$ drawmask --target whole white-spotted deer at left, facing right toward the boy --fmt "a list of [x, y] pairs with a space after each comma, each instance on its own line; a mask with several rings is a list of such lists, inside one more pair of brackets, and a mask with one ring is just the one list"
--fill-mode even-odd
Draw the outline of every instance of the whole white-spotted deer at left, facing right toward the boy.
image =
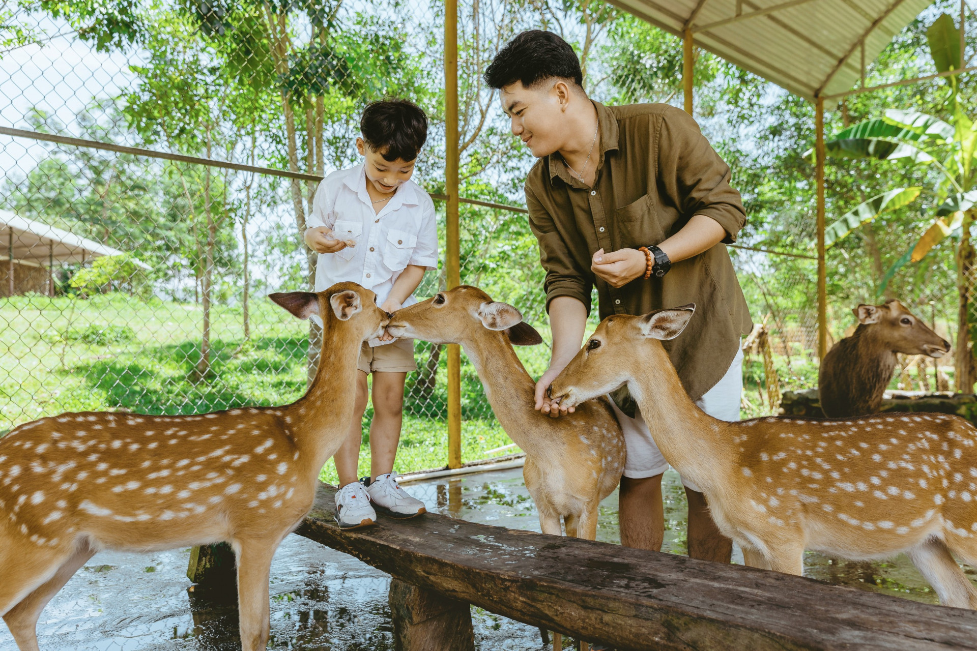
[[265, 648], [272, 556], [312, 508], [319, 469], [353, 416], [361, 343], [389, 319], [356, 283], [269, 298], [324, 323], [319, 370], [299, 401], [199, 416], [63, 414], [0, 439], [0, 614], [21, 651], [38, 649], [41, 610], [96, 551], [221, 541], [237, 558], [241, 646]]

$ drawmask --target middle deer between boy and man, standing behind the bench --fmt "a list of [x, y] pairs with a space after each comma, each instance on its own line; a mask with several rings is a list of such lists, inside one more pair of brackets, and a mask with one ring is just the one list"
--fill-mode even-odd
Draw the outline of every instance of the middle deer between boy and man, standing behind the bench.
[[553, 419], [533, 409], [535, 383], [512, 345], [542, 338], [512, 305], [463, 285], [394, 312], [387, 332], [435, 344], [460, 344], [486, 389], [499, 425], [526, 452], [523, 476], [543, 533], [594, 540], [597, 508], [620, 481], [624, 437], [605, 397]]

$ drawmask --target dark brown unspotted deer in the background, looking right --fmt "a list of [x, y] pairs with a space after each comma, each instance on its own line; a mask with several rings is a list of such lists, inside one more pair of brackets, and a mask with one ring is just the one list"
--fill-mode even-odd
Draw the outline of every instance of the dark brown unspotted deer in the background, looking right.
[[897, 352], [939, 359], [950, 351], [950, 342], [895, 299], [852, 311], [859, 323], [855, 333], [831, 346], [821, 362], [818, 387], [829, 418], [878, 413]]

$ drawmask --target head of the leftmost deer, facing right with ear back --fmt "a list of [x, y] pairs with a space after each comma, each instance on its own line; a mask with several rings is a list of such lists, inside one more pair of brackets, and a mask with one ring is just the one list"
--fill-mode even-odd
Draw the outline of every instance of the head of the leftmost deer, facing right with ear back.
[[268, 298], [300, 319], [319, 314], [324, 327], [345, 322], [361, 341], [383, 334], [390, 314], [376, 305], [376, 294], [353, 282], [336, 283], [323, 292], [278, 292]]

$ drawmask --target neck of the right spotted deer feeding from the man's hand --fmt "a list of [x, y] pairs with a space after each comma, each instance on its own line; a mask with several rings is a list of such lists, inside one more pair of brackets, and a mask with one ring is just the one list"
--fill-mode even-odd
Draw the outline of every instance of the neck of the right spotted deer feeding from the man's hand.
[[[712, 418], [692, 401], [657, 341], [650, 355], [636, 354], [628, 390], [665, 461], [703, 491], [720, 486], [736, 467], [731, 447], [734, 424]], [[651, 365], [649, 365], [651, 362]]]

